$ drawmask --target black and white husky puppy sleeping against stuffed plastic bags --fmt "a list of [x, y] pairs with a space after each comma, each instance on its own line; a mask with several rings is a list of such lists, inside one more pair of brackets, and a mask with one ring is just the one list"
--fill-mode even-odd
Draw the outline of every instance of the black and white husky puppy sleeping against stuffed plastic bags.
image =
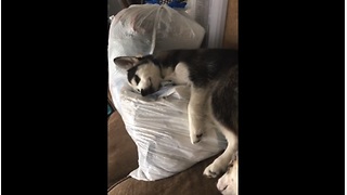
[[143, 96], [156, 92], [160, 82], [189, 84], [189, 130], [192, 144], [205, 132], [208, 117], [228, 141], [226, 151], [205, 168], [216, 178], [224, 172], [237, 151], [239, 56], [231, 49], [170, 50], [145, 56], [120, 56], [114, 63], [128, 70], [129, 84]]

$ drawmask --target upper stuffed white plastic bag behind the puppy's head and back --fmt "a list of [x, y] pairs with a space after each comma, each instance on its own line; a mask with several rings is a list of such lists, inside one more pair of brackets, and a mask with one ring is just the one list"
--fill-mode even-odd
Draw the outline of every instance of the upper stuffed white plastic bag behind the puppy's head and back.
[[[188, 14], [168, 5], [133, 4], [112, 18], [108, 32], [108, 80], [111, 94], [120, 110], [119, 93], [113, 93], [126, 81], [124, 72], [115, 67], [117, 56], [146, 55], [170, 49], [196, 49], [205, 29]], [[121, 73], [121, 74], [119, 74]]]

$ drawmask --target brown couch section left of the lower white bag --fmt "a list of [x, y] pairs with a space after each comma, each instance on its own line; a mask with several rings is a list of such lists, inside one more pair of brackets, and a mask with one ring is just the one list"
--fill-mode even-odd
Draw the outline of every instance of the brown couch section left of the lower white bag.
[[137, 146], [125, 129], [117, 110], [108, 117], [107, 186], [127, 177], [138, 167]]

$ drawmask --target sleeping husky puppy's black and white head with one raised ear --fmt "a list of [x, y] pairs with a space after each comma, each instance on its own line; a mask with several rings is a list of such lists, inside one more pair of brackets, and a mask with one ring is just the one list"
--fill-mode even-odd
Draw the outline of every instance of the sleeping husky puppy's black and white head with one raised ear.
[[114, 58], [114, 63], [128, 70], [128, 83], [142, 96], [159, 90], [163, 80], [160, 66], [152, 56], [119, 56]]

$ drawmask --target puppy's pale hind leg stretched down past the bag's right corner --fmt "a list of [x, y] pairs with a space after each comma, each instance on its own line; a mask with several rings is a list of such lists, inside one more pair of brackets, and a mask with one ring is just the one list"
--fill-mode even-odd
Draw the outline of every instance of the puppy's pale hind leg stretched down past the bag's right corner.
[[226, 151], [214, 160], [214, 162], [205, 168], [204, 176], [208, 178], [216, 178], [218, 174], [226, 171], [228, 168], [228, 164], [232, 159], [234, 153], [237, 151], [237, 135], [217, 121], [216, 125], [218, 126], [218, 129], [224, 134], [228, 141], [228, 146]]

